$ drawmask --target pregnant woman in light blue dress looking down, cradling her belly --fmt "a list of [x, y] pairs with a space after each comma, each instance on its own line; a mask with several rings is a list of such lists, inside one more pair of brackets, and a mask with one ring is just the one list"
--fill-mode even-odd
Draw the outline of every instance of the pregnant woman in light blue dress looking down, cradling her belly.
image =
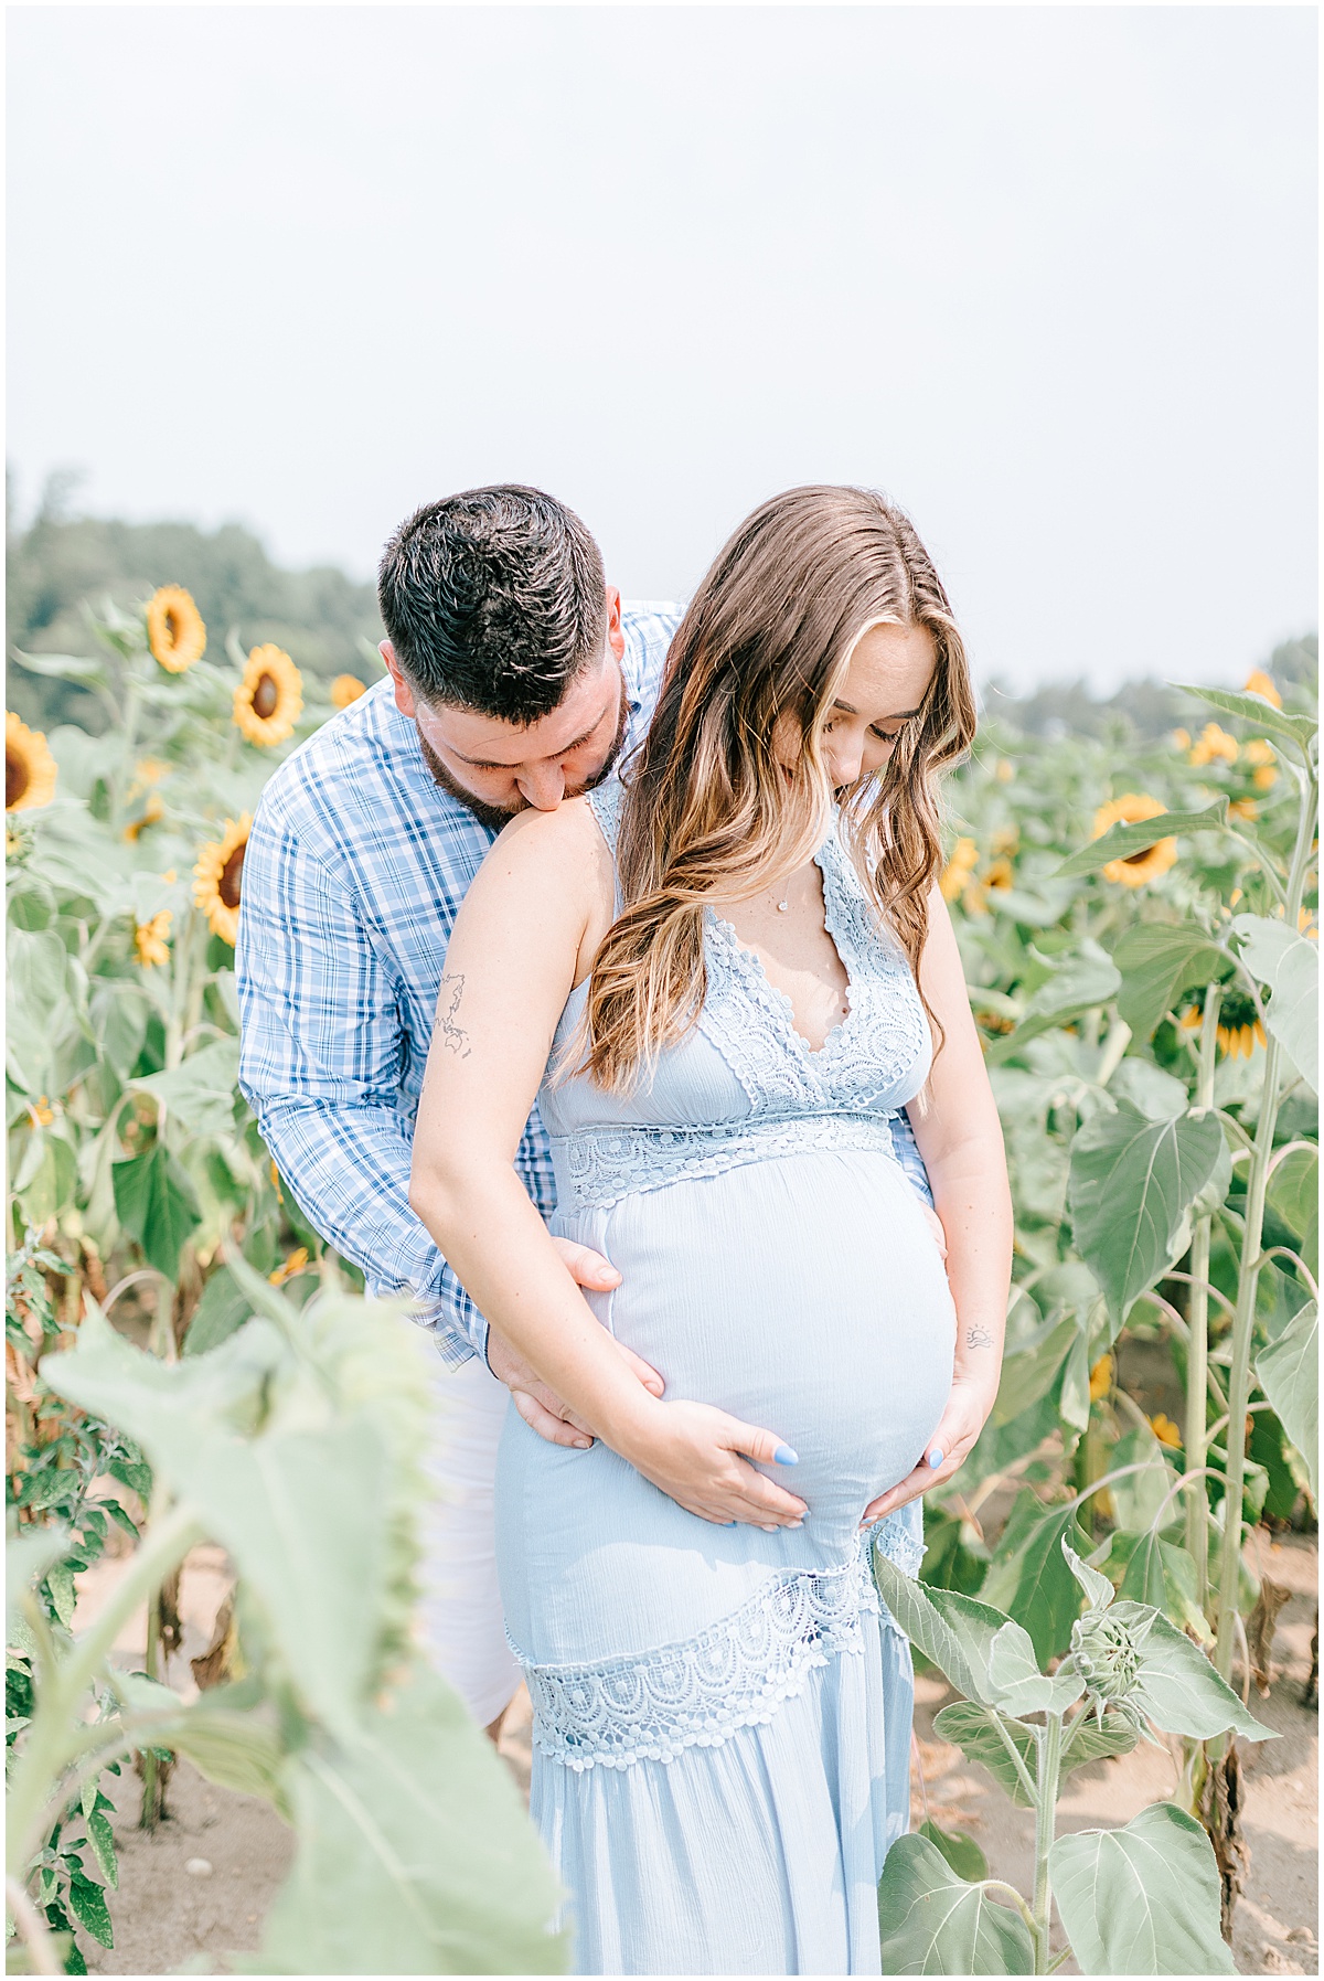
[[[699, 586], [623, 782], [520, 814], [455, 923], [412, 1200], [586, 1426], [562, 1448], [509, 1412], [499, 1462], [580, 1973], [879, 1973], [912, 1680], [869, 1547], [918, 1567], [918, 1494], [997, 1391], [1009, 1276], [934, 886], [934, 779], [972, 731], [910, 523], [792, 489]], [[511, 1167], [534, 1095], [552, 1230], [612, 1260], [610, 1296]]]

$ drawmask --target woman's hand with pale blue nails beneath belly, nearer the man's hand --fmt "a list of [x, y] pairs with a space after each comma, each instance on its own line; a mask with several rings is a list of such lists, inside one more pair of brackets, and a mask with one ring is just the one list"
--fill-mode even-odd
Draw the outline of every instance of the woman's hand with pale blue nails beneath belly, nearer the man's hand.
[[778, 1460], [788, 1446], [772, 1430], [742, 1424], [710, 1403], [655, 1403], [649, 1397], [627, 1436], [606, 1442], [687, 1513], [718, 1527], [742, 1521], [776, 1533], [800, 1527], [807, 1512], [804, 1500], [746, 1464], [746, 1458], [764, 1466], [794, 1464], [794, 1456]]

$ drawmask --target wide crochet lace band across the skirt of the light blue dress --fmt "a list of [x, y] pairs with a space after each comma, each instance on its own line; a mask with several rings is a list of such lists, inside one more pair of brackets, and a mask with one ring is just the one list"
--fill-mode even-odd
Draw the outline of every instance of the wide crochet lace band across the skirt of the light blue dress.
[[[916, 1504], [916, 1502], [914, 1502]], [[914, 1575], [924, 1553], [910, 1508], [861, 1537], [855, 1557], [819, 1575], [778, 1575], [699, 1636], [604, 1664], [524, 1666], [532, 1743], [576, 1773], [675, 1761], [687, 1747], [720, 1747], [740, 1727], [766, 1725], [809, 1672], [863, 1650], [861, 1620], [893, 1624], [871, 1575], [871, 1543]]]

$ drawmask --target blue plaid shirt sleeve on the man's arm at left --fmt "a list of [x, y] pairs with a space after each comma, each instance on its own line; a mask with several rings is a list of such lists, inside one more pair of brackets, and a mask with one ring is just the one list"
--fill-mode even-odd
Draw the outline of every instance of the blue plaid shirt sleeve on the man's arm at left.
[[412, 1123], [396, 983], [352, 893], [263, 816], [243, 856], [239, 1088], [309, 1222], [370, 1292], [410, 1294], [439, 1353], [487, 1349], [487, 1321], [410, 1208]]

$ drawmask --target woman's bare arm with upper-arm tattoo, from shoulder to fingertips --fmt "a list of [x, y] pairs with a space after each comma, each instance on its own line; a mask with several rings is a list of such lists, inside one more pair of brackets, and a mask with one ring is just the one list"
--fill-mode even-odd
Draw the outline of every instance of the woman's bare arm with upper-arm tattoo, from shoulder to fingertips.
[[414, 1135], [410, 1202], [491, 1325], [588, 1428], [689, 1512], [796, 1525], [770, 1430], [649, 1395], [594, 1317], [515, 1173], [570, 989], [612, 917], [592, 810], [520, 812], [455, 919]]

